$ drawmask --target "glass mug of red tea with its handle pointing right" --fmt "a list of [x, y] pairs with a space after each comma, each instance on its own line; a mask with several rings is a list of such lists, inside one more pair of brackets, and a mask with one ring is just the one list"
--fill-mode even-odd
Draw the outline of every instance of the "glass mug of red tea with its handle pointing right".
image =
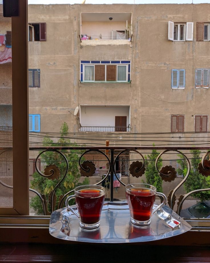
[[[130, 209], [131, 222], [138, 226], [147, 226], [152, 215], [166, 203], [166, 196], [158, 193], [156, 187], [145, 183], [126, 185], [126, 199]], [[163, 202], [153, 209], [156, 195], [163, 197]]]

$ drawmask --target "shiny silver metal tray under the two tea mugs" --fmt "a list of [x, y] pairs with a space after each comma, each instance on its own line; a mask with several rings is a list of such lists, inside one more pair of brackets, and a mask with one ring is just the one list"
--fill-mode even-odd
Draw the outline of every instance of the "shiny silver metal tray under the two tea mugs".
[[49, 226], [49, 232], [55, 238], [93, 243], [147, 242], [176, 236], [190, 229], [191, 226], [166, 205], [154, 213], [149, 226], [135, 226], [130, 222], [126, 201], [104, 202], [100, 227], [95, 230], [81, 228], [78, 217], [66, 207], [53, 211]]

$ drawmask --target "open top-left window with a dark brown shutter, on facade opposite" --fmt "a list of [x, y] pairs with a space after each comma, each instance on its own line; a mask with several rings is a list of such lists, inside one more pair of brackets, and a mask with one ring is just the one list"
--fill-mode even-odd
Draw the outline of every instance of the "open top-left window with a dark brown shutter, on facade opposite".
[[46, 41], [46, 23], [29, 23], [29, 41]]

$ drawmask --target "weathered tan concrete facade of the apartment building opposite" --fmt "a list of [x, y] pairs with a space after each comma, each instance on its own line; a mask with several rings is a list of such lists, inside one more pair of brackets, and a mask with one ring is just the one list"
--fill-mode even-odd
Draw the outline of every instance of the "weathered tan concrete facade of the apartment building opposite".
[[[118, 116], [127, 115], [130, 130], [123, 137], [133, 136], [133, 146], [163, 145], [155, 134], [151, 135], [150, 143], [135, 141], [138, 133], [169, 133], [168, 146], [191, 146], [206, 141], [208, 133], [202, 136], [201, 133], [171, 133], [171, 115], [184, 115], [184, 132], [195, 131], [195, 115], [207, 115], [209, 125], [206, 103], [210, 98], [209, 88], [195, 88], [196, 69], [210, 68], [210, 41], [196, 40], [197, 22], [210, 23], [209, 7], [209, 4], [29, 5], [29, 24], [46, 23], [46, 41], [28, 43], [29, 68], [40, 69], [40, 88], [29, 88], [29, 114], [40, 114], [40, 131], [58, 133], [62, 123], [67, 122], [75, 141], [83, 143], [77, 137], [80, 124], [87, 125], [85, 115], [81, 115], [84, 106], [118, 109], [126, 106], [129, 113]], [[107, 17], [112, 20], [105, 21]], [[184, 23], [185, 27], [193, 22], [192, 41], [168, 40], [169, 21]], [[126, 28], [131, 41], [108, 39], [112, 30]], [[81, 34], [91, 34], [93, 39], [80, 41]], [[131, 82], [81, 81], [83, 60], [130, 61]], [[173, 69], [185, 70], [183, 89], [171, 88]], [[79, 111], [74, 116], [77, 106]], [[111, 115], [106, 120], [109, 118]], [[88, 120], [91, 120], [89, 115]], [[104, 122], [104, 126], [113, 126], [113, 121]], [[113, 139], [110, 145], [121, 144], [114, 132], [110, 137]], [[187, 137], [190, 143], [185, 143]], [[30, 141], [42, 139], [31, 137]], [[104, 145], [105, 141], [106, 135]], [[93, 139], [92, 144], [95, 142]], [[176, 180], [175, 185], [180, 182]], [[170, 190], [168, 186], [165, 189]]]

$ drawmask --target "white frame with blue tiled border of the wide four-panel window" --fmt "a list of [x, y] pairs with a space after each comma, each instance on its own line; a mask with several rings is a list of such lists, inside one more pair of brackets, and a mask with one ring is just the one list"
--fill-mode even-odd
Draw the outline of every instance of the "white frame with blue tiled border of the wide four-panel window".
[[[95, 81], [95, 66], [104, 65], [105, 66], [105, 76], [104, 81]], [[116, 65], [116, 81], [106, 80], [106, 68], [108, 65]], [[85, 68], [87, 66], [94, 66], [94, 80], [85, 80]], [[118, 66], [126, 66], [126, 80], [118, 80]], [[106, 82], [106, 83], [116, 83], [116, 82], [130, 82], [130, 60], [81, 60], [80, 61], [80, 81], [84, 82]]]

